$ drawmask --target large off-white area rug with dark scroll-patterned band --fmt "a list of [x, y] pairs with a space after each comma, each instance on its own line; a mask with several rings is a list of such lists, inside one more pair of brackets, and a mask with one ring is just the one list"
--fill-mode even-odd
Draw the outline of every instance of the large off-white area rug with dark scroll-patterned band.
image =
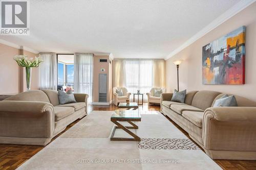
[[91, 112], [18, 169], [221, 169], [157, 111], [140, 112], [140, 142], [110, 141], [112, 113]]

